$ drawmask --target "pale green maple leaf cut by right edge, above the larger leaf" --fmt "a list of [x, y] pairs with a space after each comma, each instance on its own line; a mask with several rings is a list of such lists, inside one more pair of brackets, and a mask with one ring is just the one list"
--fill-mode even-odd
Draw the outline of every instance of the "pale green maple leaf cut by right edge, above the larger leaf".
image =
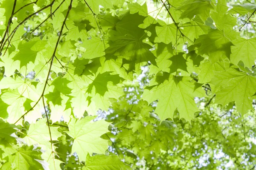
[[256, 59], [256, 38], [244, 39], [238, 37], [237, 40], [233, 41], [233, 44], [235, 46], [231, 47], [230, 61], [238, 64], [241, 60], [246, 67], [251, 68]]

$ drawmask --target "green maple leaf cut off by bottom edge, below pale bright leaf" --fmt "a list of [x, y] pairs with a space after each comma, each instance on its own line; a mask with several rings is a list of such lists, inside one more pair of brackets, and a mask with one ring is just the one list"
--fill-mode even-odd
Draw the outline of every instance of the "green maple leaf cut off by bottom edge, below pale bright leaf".
[[122, 162], [118, 156], [95, 155], [86, 157], [82, 170], [130, 170], [131, 167]]

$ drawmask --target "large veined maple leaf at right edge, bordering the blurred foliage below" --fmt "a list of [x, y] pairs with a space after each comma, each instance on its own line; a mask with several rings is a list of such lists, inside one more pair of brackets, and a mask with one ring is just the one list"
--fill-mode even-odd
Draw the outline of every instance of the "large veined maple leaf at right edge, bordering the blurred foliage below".
[[242, 115], [253, 110], [252, 96], [256, 91], [256, 77], [236, 68], [229, 68], [216, 72], [210, 83], [215, 85], [213, 91], [216, 94], [216, 103], [224, 106], [235, 101], [237, 111]]

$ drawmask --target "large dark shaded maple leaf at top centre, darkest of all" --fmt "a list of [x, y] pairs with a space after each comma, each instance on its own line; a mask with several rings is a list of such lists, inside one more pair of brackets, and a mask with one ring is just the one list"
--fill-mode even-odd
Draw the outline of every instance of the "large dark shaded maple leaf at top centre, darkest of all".
[[149, 51], [152, 46], [143, 42], [146, 37], [144, 29], [138, 27], [144, 19], [145, 17], [137, 13], [126, 13], [122, 20], [116, 23], [116, 31], [109, 32], [111, 41], [108, 42], [110, 46], [106, 49], [106, 54], [124, 58], [123, 67], [128, 71], [140, 71], [140, 67], [148, 61], [156, 65], [155, 57]]

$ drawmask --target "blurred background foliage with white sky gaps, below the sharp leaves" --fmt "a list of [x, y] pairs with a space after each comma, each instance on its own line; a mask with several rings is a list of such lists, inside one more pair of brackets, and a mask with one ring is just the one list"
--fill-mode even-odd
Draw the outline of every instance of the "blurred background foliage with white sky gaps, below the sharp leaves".
[[234, 102], [222, 108], [202, 98], [197, 101], [202, 111], [191, 124], [177, 112], [173, 120], [160, 122], [154, 114], [156, 103], [148, 106], [127, 98], [141, 95], [138, 87], [131, 88], [136, 90], [126, 91], [104, 117], [112, 122], [106, 133], [110, 151], [133, 169], [255, 169], [255, 112], [241, 117]]

